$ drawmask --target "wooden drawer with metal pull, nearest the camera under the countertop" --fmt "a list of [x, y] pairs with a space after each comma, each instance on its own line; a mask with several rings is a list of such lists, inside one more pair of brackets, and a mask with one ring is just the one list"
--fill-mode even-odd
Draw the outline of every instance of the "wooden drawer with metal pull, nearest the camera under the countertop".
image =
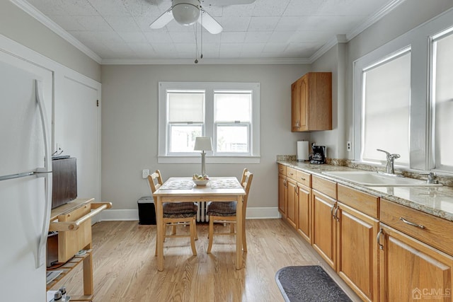
[[[453, 255], [453, 222], [381, 199], [380, 221]], [[404, 222], [402, 219], [405, 219]], [[415, 223], [413, 226], [409, 223]]]

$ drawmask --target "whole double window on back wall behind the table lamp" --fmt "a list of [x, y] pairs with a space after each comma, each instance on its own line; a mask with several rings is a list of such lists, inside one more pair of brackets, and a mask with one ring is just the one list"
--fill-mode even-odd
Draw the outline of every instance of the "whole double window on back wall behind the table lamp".
[[159, 163], [197, 163], [195, 137], [212, 137], [210, 163], [259, 162], [259, 83], [159, 83]]

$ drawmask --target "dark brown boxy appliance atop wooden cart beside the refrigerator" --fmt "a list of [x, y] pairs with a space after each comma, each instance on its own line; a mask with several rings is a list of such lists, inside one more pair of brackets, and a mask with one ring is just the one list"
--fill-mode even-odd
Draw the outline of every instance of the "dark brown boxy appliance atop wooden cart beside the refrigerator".
[[76, 158], [52, 159], [52, 209], [77, 198]]

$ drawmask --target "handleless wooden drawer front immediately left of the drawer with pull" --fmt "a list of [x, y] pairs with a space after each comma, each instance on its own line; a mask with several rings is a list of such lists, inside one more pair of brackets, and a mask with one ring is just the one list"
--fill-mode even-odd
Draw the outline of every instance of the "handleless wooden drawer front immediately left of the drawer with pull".
[[338, 201], [375, 219], [379, 218], [379, 197], [338, 185]]

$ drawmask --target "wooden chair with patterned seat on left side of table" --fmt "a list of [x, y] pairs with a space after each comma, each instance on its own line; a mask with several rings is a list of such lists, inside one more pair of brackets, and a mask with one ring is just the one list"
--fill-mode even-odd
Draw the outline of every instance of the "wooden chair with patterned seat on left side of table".
[[[162, 175], [160, 170], [152, 173], [148, 176], [149, 186], [151, 187], [151, 193], [156, 192], [159, 187], [163, 184]], [[154, 197], [154, 196], [153, 196]], [[154, 197], [154, 202], [157, 202], [157, 198]], [[194, 202], [164, 202], [162, 204], [164, 211], [163, 221], [164, 224], [162, 230], [164, 232], [163, 238], [190, 238], [190, 245], [192, 247], [193, 255], [197, 255], [197, 250], [195, 248], [195, 240], [197, 237], [196, 229], [196, 216], [198, 210], [198, 204]], [[176, 226], [183, 225], [190, 227], [189, 234], [176, 234]], [[173, 231], [171, 235], [166, 234], [166, 227], [173, 226]], [[157, 236], [156, 236], [156, 251], [155, 255], [157, 256]]]

